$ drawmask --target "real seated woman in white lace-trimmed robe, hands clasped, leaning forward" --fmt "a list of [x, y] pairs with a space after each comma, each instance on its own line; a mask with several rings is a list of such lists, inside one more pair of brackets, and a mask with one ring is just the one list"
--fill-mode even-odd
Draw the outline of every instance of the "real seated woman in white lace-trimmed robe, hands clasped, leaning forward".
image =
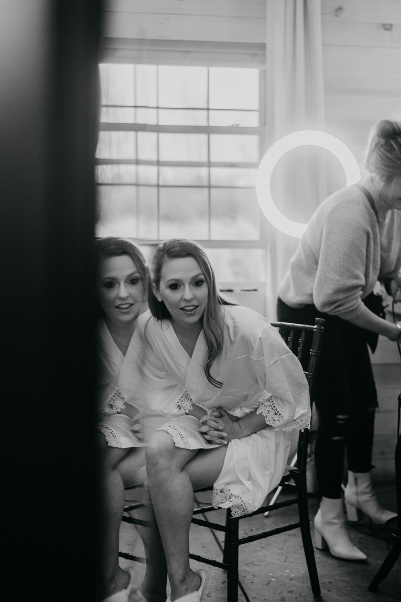
[[283, 476], [289, 431], [310, 424], [308, 385], [268, 320], [219, 296], [198, 244], [160, 245], [151, 271], [153, 317], [137, 329], [142, 394], [174, 418], [146, 448], [148, 483], [171, 602], [199, 602], [207, 572], [189, 568], [194, 489], [213, 485], [213, 504], [237, 516], [262, 506]]

